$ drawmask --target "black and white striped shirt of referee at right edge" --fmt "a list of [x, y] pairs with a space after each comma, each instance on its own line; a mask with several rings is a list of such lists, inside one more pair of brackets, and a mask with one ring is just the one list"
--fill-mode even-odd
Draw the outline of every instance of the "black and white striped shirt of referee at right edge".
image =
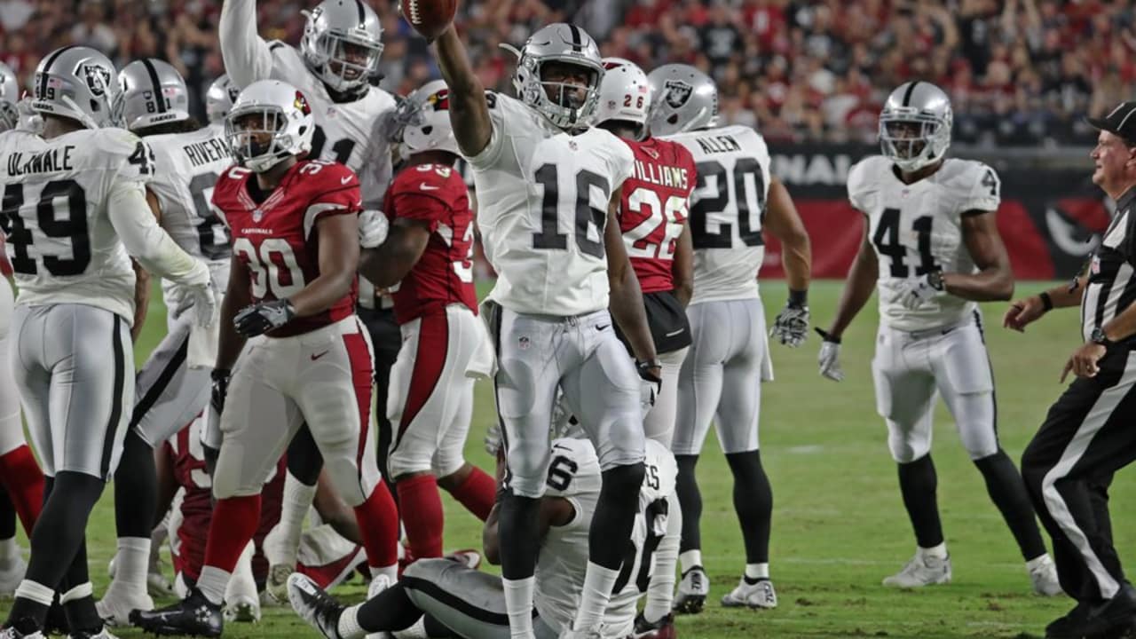
[[1117, 214], [1089, 262], [1088, 285], [1080, 300], [1085, 341], [1136, 301], [1136, 186], [1117, 201]]

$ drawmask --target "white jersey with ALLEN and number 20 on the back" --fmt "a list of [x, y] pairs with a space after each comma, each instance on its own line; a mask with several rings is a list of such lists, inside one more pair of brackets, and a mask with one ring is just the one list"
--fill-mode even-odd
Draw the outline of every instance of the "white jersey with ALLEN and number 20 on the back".
[[694, 156], [691, 194], [694, 294], [691, 304], [752, 299], [766, 256], [761, 223], [769, 194], [769, 149], [749, 126], [669, 135]]

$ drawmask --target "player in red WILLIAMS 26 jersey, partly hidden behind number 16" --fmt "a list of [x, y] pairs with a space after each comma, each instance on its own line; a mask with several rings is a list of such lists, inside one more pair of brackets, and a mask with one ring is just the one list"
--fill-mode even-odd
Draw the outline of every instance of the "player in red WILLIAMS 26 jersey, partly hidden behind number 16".
[[643, 290], [646, 321], [662, 363], [662, 390], [643, 418], [646, 437], [670, 449], [678, 408], [678, 371], [691, 345], [686, 305], [694, 289], [690, 198], [694, 158], [685, 147], [652, 138], [646, 128], [651, 86], [646, 74], [620, 58], [604, 58], [595, 125], [635, 152], [635, 172], [624, 183], [619, 226]]

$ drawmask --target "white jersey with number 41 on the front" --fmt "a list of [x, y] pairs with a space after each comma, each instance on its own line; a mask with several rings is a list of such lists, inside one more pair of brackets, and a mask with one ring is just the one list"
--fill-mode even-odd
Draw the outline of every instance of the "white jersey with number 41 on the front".
[[980, 161], [949, 158], [930, 176], [904, 184], [893, 166], [883, 156], [871, 156], [849, 171], [849, 200], [868, 216], [868, 240], [879, 262], [880, 321], [900, 331], [960, 322], [975, 312], [976, 302], [941, 294], [908, 310], [896, 289], [936, 267], [945, 273], [978, 271], [962, 238], [962, 218], [969, 211], [997, 210], [997, 174]]

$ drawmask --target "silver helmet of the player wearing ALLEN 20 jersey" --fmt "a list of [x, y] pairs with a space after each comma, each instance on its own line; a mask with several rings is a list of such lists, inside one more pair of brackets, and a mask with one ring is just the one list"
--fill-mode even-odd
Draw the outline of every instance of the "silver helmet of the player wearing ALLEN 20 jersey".
[[718, 124], [718, 85], [690, 65], [663, 65], [646, 76], [651, 83], [652, 135], [673, 135]]

